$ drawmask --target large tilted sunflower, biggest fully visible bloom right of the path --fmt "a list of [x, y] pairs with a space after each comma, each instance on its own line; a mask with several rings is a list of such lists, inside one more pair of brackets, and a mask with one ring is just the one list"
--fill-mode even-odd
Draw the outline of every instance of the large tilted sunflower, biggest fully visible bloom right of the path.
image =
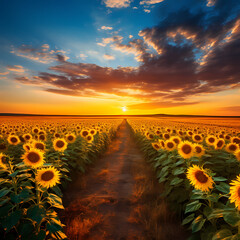
[[214, 181], [203, 168], [197, 165], [189, 167], [187, 170], [187, 178], [195, 189], [208, 192], [213, 188]]

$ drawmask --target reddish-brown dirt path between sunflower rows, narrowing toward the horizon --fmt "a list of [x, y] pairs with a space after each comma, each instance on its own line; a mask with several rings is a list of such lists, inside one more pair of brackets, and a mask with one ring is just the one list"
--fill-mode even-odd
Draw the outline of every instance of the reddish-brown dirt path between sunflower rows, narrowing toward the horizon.
[[[74, 181], [65, 193], [64, 205], [67, 207], [61, 219], [69, 239], [158, 239], [147, 235], [144, 216], [143, 221], [139, 220], [145, 167], [124, 120], [104, 157], [88, 174]], [[161, 211], [166, 215], [165, 206], [163, 208]], [[163, 218], [166, 219], [166, 216]], [[170, 227], [173, 231], [173, 226]], [[174, 237], [181, 239], [179, 231]], [[171, 238], [168, 236], [166, 239]]]

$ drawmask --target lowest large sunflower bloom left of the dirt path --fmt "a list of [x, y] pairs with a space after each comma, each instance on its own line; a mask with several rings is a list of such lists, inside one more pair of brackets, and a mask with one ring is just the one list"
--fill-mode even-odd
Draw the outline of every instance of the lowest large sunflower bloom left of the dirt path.
[[60, 183], [60, 172], [54, 167], [42, 168], [37, 171], [36, 180], [42, 187], [53, 187]]

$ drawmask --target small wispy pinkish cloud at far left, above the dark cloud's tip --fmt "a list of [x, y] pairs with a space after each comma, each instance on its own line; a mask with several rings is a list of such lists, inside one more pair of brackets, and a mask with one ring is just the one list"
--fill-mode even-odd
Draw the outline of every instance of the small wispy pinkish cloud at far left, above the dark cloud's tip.
[[13, 48], [11, 53], [19, 57], [24, 57], [32, 61], [40, 63], [51, 63], [54, 61], [64, 62], [69, 59], [63, 50], [50, 50], [48, 44], [43, 44], [38, 48], [34, 48], [31, 45], [22, 45], [18, 48]]

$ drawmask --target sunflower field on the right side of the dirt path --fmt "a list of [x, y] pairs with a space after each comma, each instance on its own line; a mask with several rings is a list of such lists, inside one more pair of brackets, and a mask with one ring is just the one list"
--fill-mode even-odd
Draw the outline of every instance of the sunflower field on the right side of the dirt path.
[[240, 129], [154, 119], [129, 124], [189, 239], [240, 239]]

